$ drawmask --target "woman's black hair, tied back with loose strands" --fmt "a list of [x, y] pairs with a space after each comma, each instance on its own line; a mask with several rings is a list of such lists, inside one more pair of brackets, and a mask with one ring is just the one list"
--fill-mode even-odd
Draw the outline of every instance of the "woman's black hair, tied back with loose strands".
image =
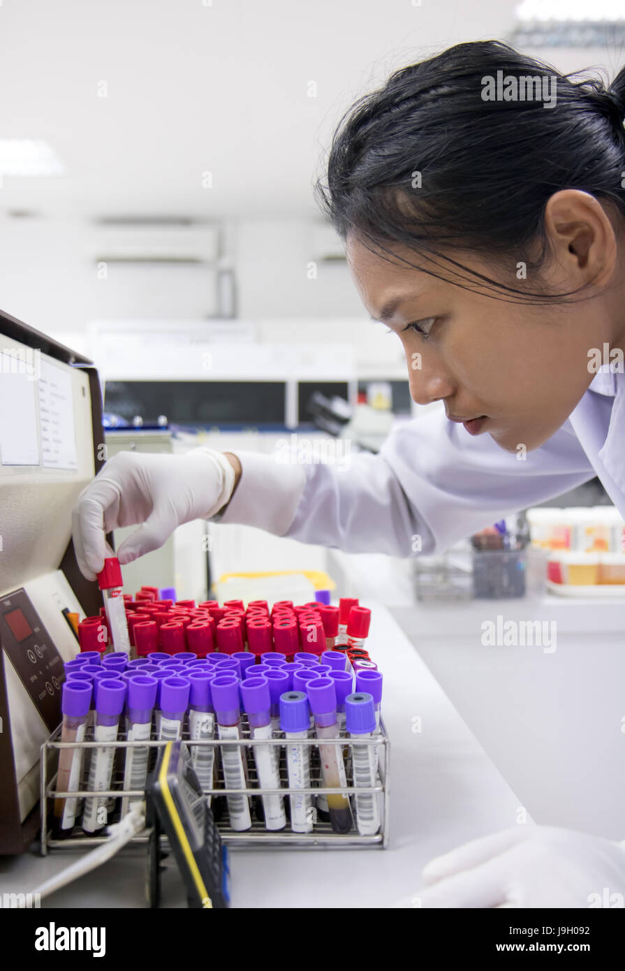
[[[484, 100], [485, 79], [498, 71], [519, 84], [554, 79], [555, 104]], [[354, 232], [384, 258], [397, 261], [391, 248], [405, 245], [452, 283], [468, 276], [489, 295], [503, 293], [499, 299], [561, 300], [570, 294], [507, 286], [449, 254], [474, 251], [491, 264], [513, 256], [514, 265], [540, 270], [544, 207], [564, 188], [610, 202], [625, 216], [624, 117], [625, 68], [606, 86], [563, 75], [499, 41], [458, 44], [396, 71], [352, 105], [334, 135], [327, 182], [315, 186], [317, 199], [344, 241]], [[416, 173], [420, 187], [412, 183]]]

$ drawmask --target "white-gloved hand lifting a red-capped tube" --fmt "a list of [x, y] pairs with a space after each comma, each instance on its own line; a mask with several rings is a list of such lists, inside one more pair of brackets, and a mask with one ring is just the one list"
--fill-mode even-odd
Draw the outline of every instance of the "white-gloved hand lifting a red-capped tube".
[[72, 512], [76, 558], [87, 580], [104, 567], [105, 534], [142, 523], [119, 547], [120, 563], [163, 545], [183, 522], [207, 519], [224, 506], [235, 471], [222, 452], [193, 449], [181, 455], [117, 452], [82, 489]]

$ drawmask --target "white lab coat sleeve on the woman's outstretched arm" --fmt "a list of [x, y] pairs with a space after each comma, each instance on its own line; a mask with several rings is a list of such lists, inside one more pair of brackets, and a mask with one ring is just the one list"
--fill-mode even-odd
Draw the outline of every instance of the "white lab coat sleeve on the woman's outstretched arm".
[[398, 428], [378, 455], [279, 464], [237, 452], [243, 475], [220, 517], [345, 552], [443, 552], [503, 516], [592, 479], [570, 423], [520, 459], [434, 410]]

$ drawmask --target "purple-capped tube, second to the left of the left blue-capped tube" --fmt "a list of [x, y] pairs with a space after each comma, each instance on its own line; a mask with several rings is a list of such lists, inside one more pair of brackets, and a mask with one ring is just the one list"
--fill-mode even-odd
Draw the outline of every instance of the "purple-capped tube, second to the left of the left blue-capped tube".
[[[241, 711], [239, 707], [239, 680], [235, 675], [215, 674], [211, 683], [214, 716], [220, 739], [241, 738]], [[223, 781], [227, 789], [247, 788], [247, 778], [242, 746], [221, 746]], [[247, 795], [226, 796], [230, 825], [237, 832], [249, 829], [249, 799]]]

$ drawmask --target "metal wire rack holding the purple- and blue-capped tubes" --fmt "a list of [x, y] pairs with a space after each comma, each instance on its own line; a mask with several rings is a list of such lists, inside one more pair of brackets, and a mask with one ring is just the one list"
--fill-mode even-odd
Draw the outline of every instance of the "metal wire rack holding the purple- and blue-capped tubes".
[[[370, 788], [364, 787], [354, 787], [353, 784], [353, 771], [352, 771], [352, 758], [351, 758], [351, 740], [342, 732], [337, 740], [323, 739], [323, 745], [333, 745], [339, 746], [342, 749], [342, 757], [344, 757], [345, 762], [345, 778], [346, 786], [342, 788], [329, 788], [323, 787], [321, 785], [321, 774], [320, 774], [320, 764], [318, 757], [318, 745], [319, 742], [315, 738], [301, 739], [297, 741], [297, 745], [302, 745], [310, 748], [311, 750], [311, 787], [309, 788], [289, 788], [287, 779], [287, 770], [285, 764], [284, 746], [286, 745], [286, 740], [280, 732], [276, 732], [272, 739], [252, 739], [249, 735], [249, 725], [247, 723], [247, 717], [242, 716], [241, 721], [241, 738], [240, 739], [214, 739], [214, 740], [202, 740], [202, 741], [192, 741], [188, 737], [188, 732], [183, 730], [182, 741], [185, 742], [189, 750], [193, 746], [213, 746], [216, 749], [214, 758], [214, 788], [205, 788], [205, 795], [212, 795], [213, 802], [212, 808], [214, 811], [215, 820], [217, 822], [217, 828], [219, 830], [222, 842], [228, 845], [231, 849], [236, 847], [250, 847], [253, 846], [254, 849], [259, 847], [268, 848], [292, 848], [292, 849], [328, 849], [330, 847], [378, 847], [386, 848], [388, 845], [388, 789], [389, 789], [389, 769], [390, 769], [390, 745], [388, 740], [388, 735], [384, 726], [383, 720], [380, 719], [379, 733], [371, 739], [358, 740], [358, 745], [374, 746], [377, 749], [378, 754], [378, 777], [376, 780], [376, 785]], [[123, 796], [144, 796], [143, 790], [138, 789], [128, 789], [124, 788], [123, 782], [123, 764], [125, 757], [125, 750], [129, 748], [144, 749], [148, 747], [153, 752], [150, 753], [150, 767], [155, 764], [158, 749], [167, 745], [166, 741], [128, 741], [125, 733], [121, 730], [118, 734], [117, 740], [115, 742], [94, 742], [92, 729], [87, 728], [85, 733], [85, 738], [82, 742], [61, 742], [61, 727], [55, 729], [54, 732], [49, 736], [49, 739], [42, 746], [42, 758], [41, 758], [41, 845], [40, 852], [42, 855], [49, 854], [50, 850], [62, 850], [62, 849], [73, 849], [84, 847], [88, 849], [89, 847], [96, 846], [98, 844], [106, 842], [107, 837], [102, 835], [102, 833], [97, 835], [88, 835], [82, 830], [80, 825], [80, 816], [77, 816], [79, 820], [77, 825], [74, 826], [68, 835], [63, 835], [62, 838], [55, 838], [51, 829], [51, 810], [53, 807], [54, 799], [56, 798], [67, 798], [69, 796], [74, 796], [79, 800], [86, 798], [87, 796], [101, 796], [110, 800], [115, 801], [115, 808], [113, 808], [108, 814], [108, 822], [113, 823], [119, 818], [119, 813], [121, 810], [121, 800]], [[276, 746], [280, 748], [280, 788], [261, 788], [258, 786], [258, 780], [256, 776], [256, 771], [254, 768], [254, 758], [253, 749], [256, 746]], [[223, 772], [221, 768], [221, 758], [219, 753], [222, 752], [226, 747], [241, 747], [244, 750], [244, 761], [247, 762], [247, 788], [245, 789], [228, 789], [224, 786]], [[82, 776], [80, 781], [80, 787], [71, 791], [61, 791], [56, 788], [56, 766], [58, 763], [58, 753], [61, 749], [82, 749]], [[115, 749], [115, 769], [112, 780], [112, 787], [110, 789], [94, 792], [87, 788], [87, 777], [88, 777], [88, 763], [89, 756], [94, 749], [103, 748], [113, 748]], [[380, 826], [378, 832], [374, 835], [361, 835], [354, 822], [352, 829], [348, 833], [337, 833], [332, 829], [329, 821], [323, 820], [319, 817], [318, 811], [313, 808], [313, 829], [311, 832], [298, 833], [292, 832], [290, 829], [290, 822], [287, 818], [286, 827], [279, 831], [270, 831], [265, 828], [264, 821], [261, 815], [258, 813], [258, 806], [261, 805], [261, 798], [263, 795], [274, 795], [280, 794], [284, 797], [289, 795], [296, 795], [302, 793], [310, 793], [314, 797], [320, 795], [332, 795], [336, 793], [343, 793], [352, 805], [352, 817], [353, 817], [353, 803], [356, 794], [363, 795], [366, 793], [374, 793], [375, 798], [378, 801], [378, 812], [380, 819]], [[226, 797], [228, 795], [241, 795], [247, 794], [252, 799], [252, 812], [251, 827], [245, 831], [235, 831], [230, 826], [230, 821], [228, 818], [228, 807]], [[285, 805], [288, 812], [288, 798], [285, 798]], [[135, 837], [135, 843], [148, 843], [149, 832], [146, 831]], [[166, 837], [161, 837], [161, 839], [166, 840]]]

